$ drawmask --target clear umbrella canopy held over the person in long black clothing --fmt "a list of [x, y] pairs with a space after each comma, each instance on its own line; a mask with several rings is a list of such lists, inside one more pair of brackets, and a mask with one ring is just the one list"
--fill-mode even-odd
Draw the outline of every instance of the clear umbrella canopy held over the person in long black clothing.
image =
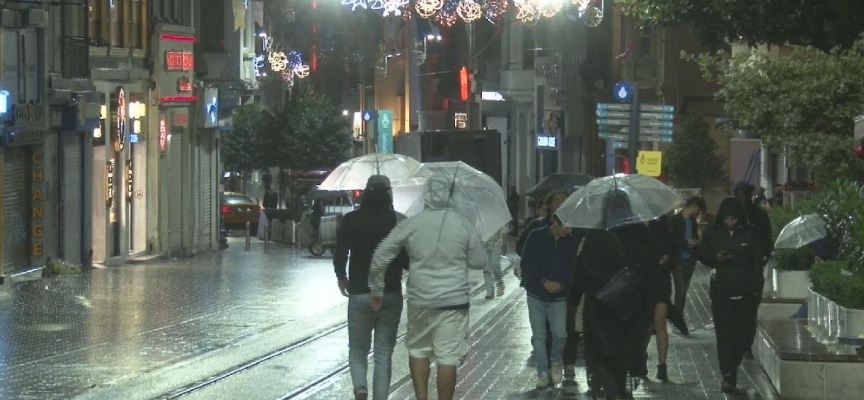
[[681, 197], [663, 182], [644, 175], [616, 174], [580, 188], [555, 214], [569, 227], [608, 230], [657, 219], [680, 203]]

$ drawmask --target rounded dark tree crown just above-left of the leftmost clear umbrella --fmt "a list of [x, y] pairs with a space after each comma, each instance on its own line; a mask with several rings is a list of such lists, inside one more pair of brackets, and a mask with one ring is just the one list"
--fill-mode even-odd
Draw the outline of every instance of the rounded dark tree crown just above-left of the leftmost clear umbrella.
[[277, 118], [282, 126], [280, 143], [273, 148], [291, 168], [329, 168], [345, 161], [351, 147], [348, 120], [325, 96], [305, 94], [282, 114]]

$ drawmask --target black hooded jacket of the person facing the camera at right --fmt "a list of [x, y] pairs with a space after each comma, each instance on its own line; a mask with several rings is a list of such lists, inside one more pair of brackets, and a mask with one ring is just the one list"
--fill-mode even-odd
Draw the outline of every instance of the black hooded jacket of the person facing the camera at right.
[[[726, 227], [727, 216], [738, 218], [734, 229]], [[732, 258], [717, 260], [721, 251]], [[765, 278], [762, 275], [762, 250], [753, 227], [747, 224], [744, 208], [733, 197], [720, 203], [714, 224], [705, 229], [699, 244], [699, 261], [714, 269], [711, 291], [722, 296], [761, 294]]]

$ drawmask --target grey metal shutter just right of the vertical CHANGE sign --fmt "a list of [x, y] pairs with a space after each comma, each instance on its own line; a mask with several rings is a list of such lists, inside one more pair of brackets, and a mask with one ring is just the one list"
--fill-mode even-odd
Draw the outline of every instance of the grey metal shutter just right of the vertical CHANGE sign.
[[72, 263], [83, 263], [84, 210], [82, 208], [83, 141], [81, 134], [68, 134], [63, 140], [63, 258]]

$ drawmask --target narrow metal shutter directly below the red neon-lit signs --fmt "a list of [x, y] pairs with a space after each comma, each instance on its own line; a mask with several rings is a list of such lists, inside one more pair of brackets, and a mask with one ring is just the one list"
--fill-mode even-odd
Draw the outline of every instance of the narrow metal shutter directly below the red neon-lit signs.
[[171, 135], [168, 149], [168, 251], [183, 251], [183, 135]]

